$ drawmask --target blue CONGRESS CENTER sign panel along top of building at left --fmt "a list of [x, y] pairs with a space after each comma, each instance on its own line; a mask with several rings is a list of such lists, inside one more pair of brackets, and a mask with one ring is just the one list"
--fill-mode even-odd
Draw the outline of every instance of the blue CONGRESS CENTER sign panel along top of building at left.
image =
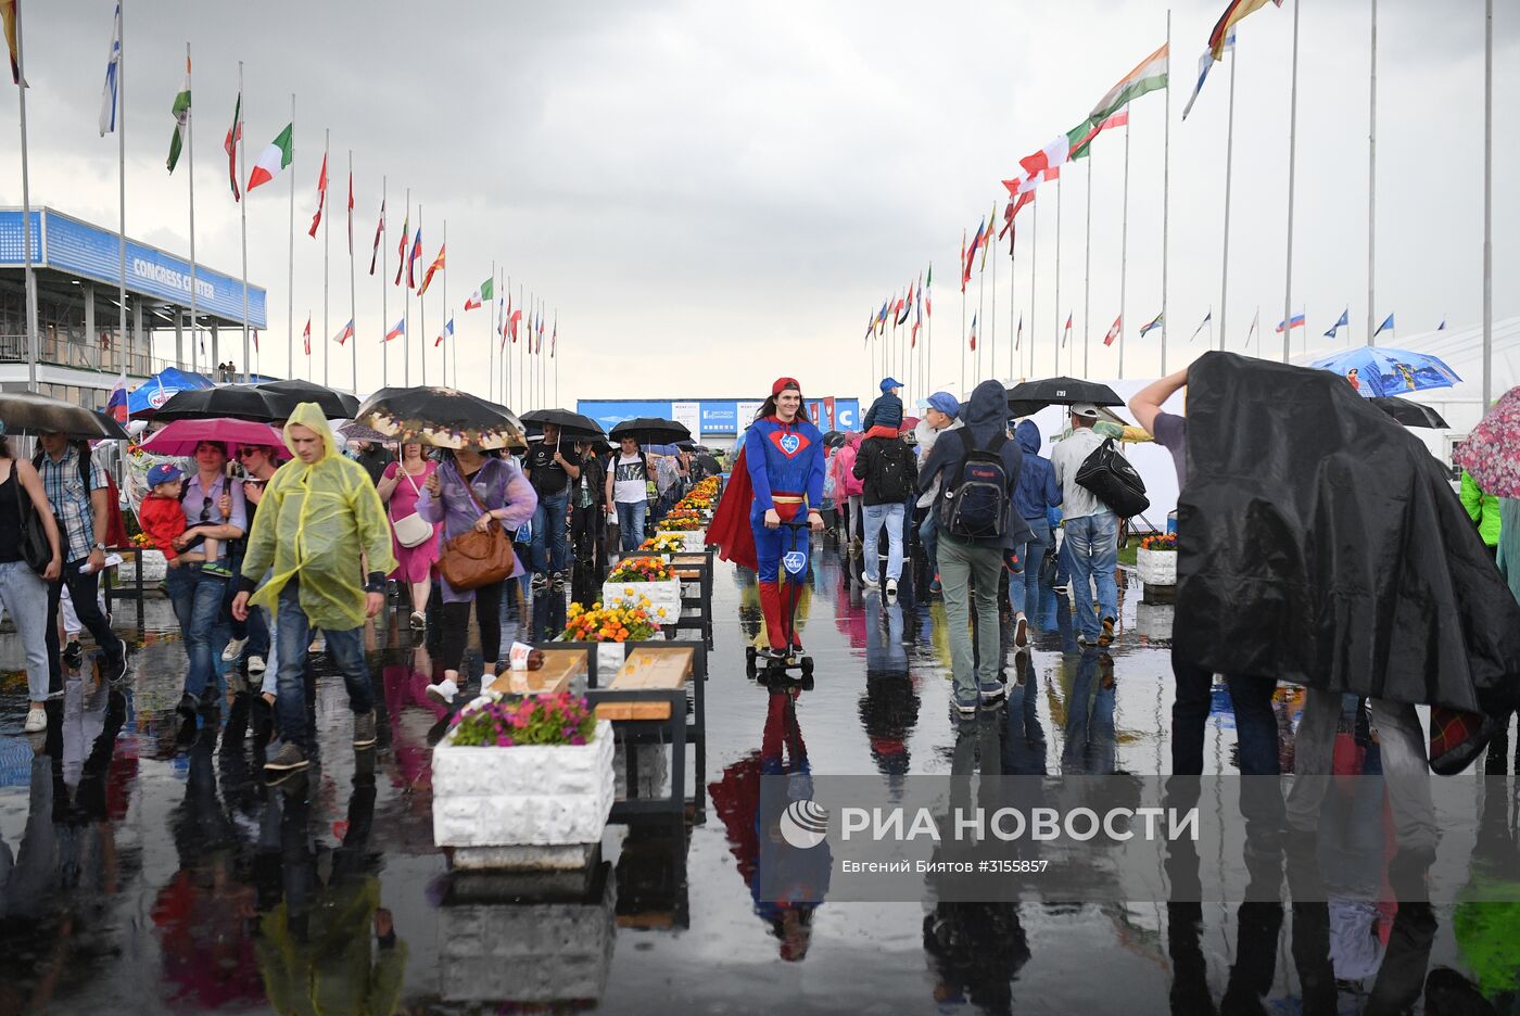
[[[33, 214], [33, 238], [36, 237]], [[0, 264], [21, 264], [21, 213], [0, 213]], [[41, 229], [43, 249], [36, 260], [47, 267], [114, 286], [120, 279], [120, 240], [117, 234], [47, 210]], [[14, 252], [12, 252], [14, 248]], [[36, 249], [33, 248], [33, 257]], [[143, 296], [190, 305], [190, 263], [157, 248], [126, 241], [126, 289]], [[196, 305], [226, 320], [243, 319], [243, 282], [196, 264]], [[248, 323], [268, 327], [264, 290], [248, 287]]]

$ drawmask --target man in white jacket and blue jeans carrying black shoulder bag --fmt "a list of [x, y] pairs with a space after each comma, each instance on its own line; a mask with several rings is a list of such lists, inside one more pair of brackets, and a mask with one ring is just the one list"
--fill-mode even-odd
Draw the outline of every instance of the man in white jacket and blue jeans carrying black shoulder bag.
[[[1050, 453], [1055, 481], [1061, 484], [1066, 553], [1072, 565], [1072, 598], [1076, 601], [1076, 623], [1082, 645], [1111, 645], [1114, 623], [1119, 620], [1119, 588], [1114, 568], [1119, 566], [1119, 516], [1097, 500], [1097, 495], [1076, 481], [1087, 457], [1107, 437], [1093, 430], [1097, 407], [1078, 402], [1072, 407], [1072, 436], [1058, 442]], [[1093, 612], [1093, 579], [1097, 580], [1097, 614]]]

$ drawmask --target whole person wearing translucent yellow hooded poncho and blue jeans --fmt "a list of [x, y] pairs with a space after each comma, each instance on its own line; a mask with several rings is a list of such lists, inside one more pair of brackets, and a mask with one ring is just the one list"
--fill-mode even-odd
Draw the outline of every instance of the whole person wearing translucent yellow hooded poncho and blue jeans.
[[[395, 568], [391, 524], [363, 466], [339, 456], [316, 402], [301, 402], [284, 425], [295, 459], [269, 481], [243, 554], [233, 614], [274, 612], [278, 630], [277, 708], [283, 744], [264, 764], [272, 775], [306, 768], [306, 647], [312, 629], [327, 635], [354, 711], [354, 749], [374, 747], [374, 694], [365, 665], [363, 624], [385, 606], [385, 577]], [[360, 562], [368, 582], [360, 585]]]

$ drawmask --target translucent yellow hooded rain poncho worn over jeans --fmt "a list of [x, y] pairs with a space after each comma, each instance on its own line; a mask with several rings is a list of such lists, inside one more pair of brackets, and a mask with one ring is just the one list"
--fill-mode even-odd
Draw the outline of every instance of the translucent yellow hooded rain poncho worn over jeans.
[[301, 609], [313, 629], [347, 632], [365, 623], [365, 570], [389, 574], [391, 524], [369, 474], [337, 454], [333, 431], [316, 402], [295, 407], [284, 427], [302, 425], [322, 439], [322, 457], [280, 466], [254, 516], [243, 577], [274, 576], [251, 603], [271, 612], [290, 579], [301, 580]]

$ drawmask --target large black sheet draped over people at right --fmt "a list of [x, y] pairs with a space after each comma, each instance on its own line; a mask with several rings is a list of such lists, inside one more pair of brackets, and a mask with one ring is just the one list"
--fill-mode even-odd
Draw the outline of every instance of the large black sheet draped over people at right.
[[1520, 604], [1446, 469], [1336, 374], [1187, 375], [1175, 648], [1222, 674], [1497, 714]]

